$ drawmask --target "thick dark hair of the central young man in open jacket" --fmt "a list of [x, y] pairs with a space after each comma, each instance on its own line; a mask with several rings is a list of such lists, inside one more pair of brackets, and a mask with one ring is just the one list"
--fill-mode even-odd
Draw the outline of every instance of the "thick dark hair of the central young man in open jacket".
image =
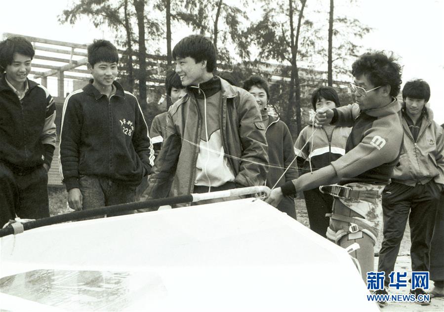
[[216, 68], [216, 47], [210, 39], [202, 35], [191, 35], [180, 40], [173, 48], [172, 57], [191, 57], [196, 63], [206, 61], [206, 71], [212, 73]]

